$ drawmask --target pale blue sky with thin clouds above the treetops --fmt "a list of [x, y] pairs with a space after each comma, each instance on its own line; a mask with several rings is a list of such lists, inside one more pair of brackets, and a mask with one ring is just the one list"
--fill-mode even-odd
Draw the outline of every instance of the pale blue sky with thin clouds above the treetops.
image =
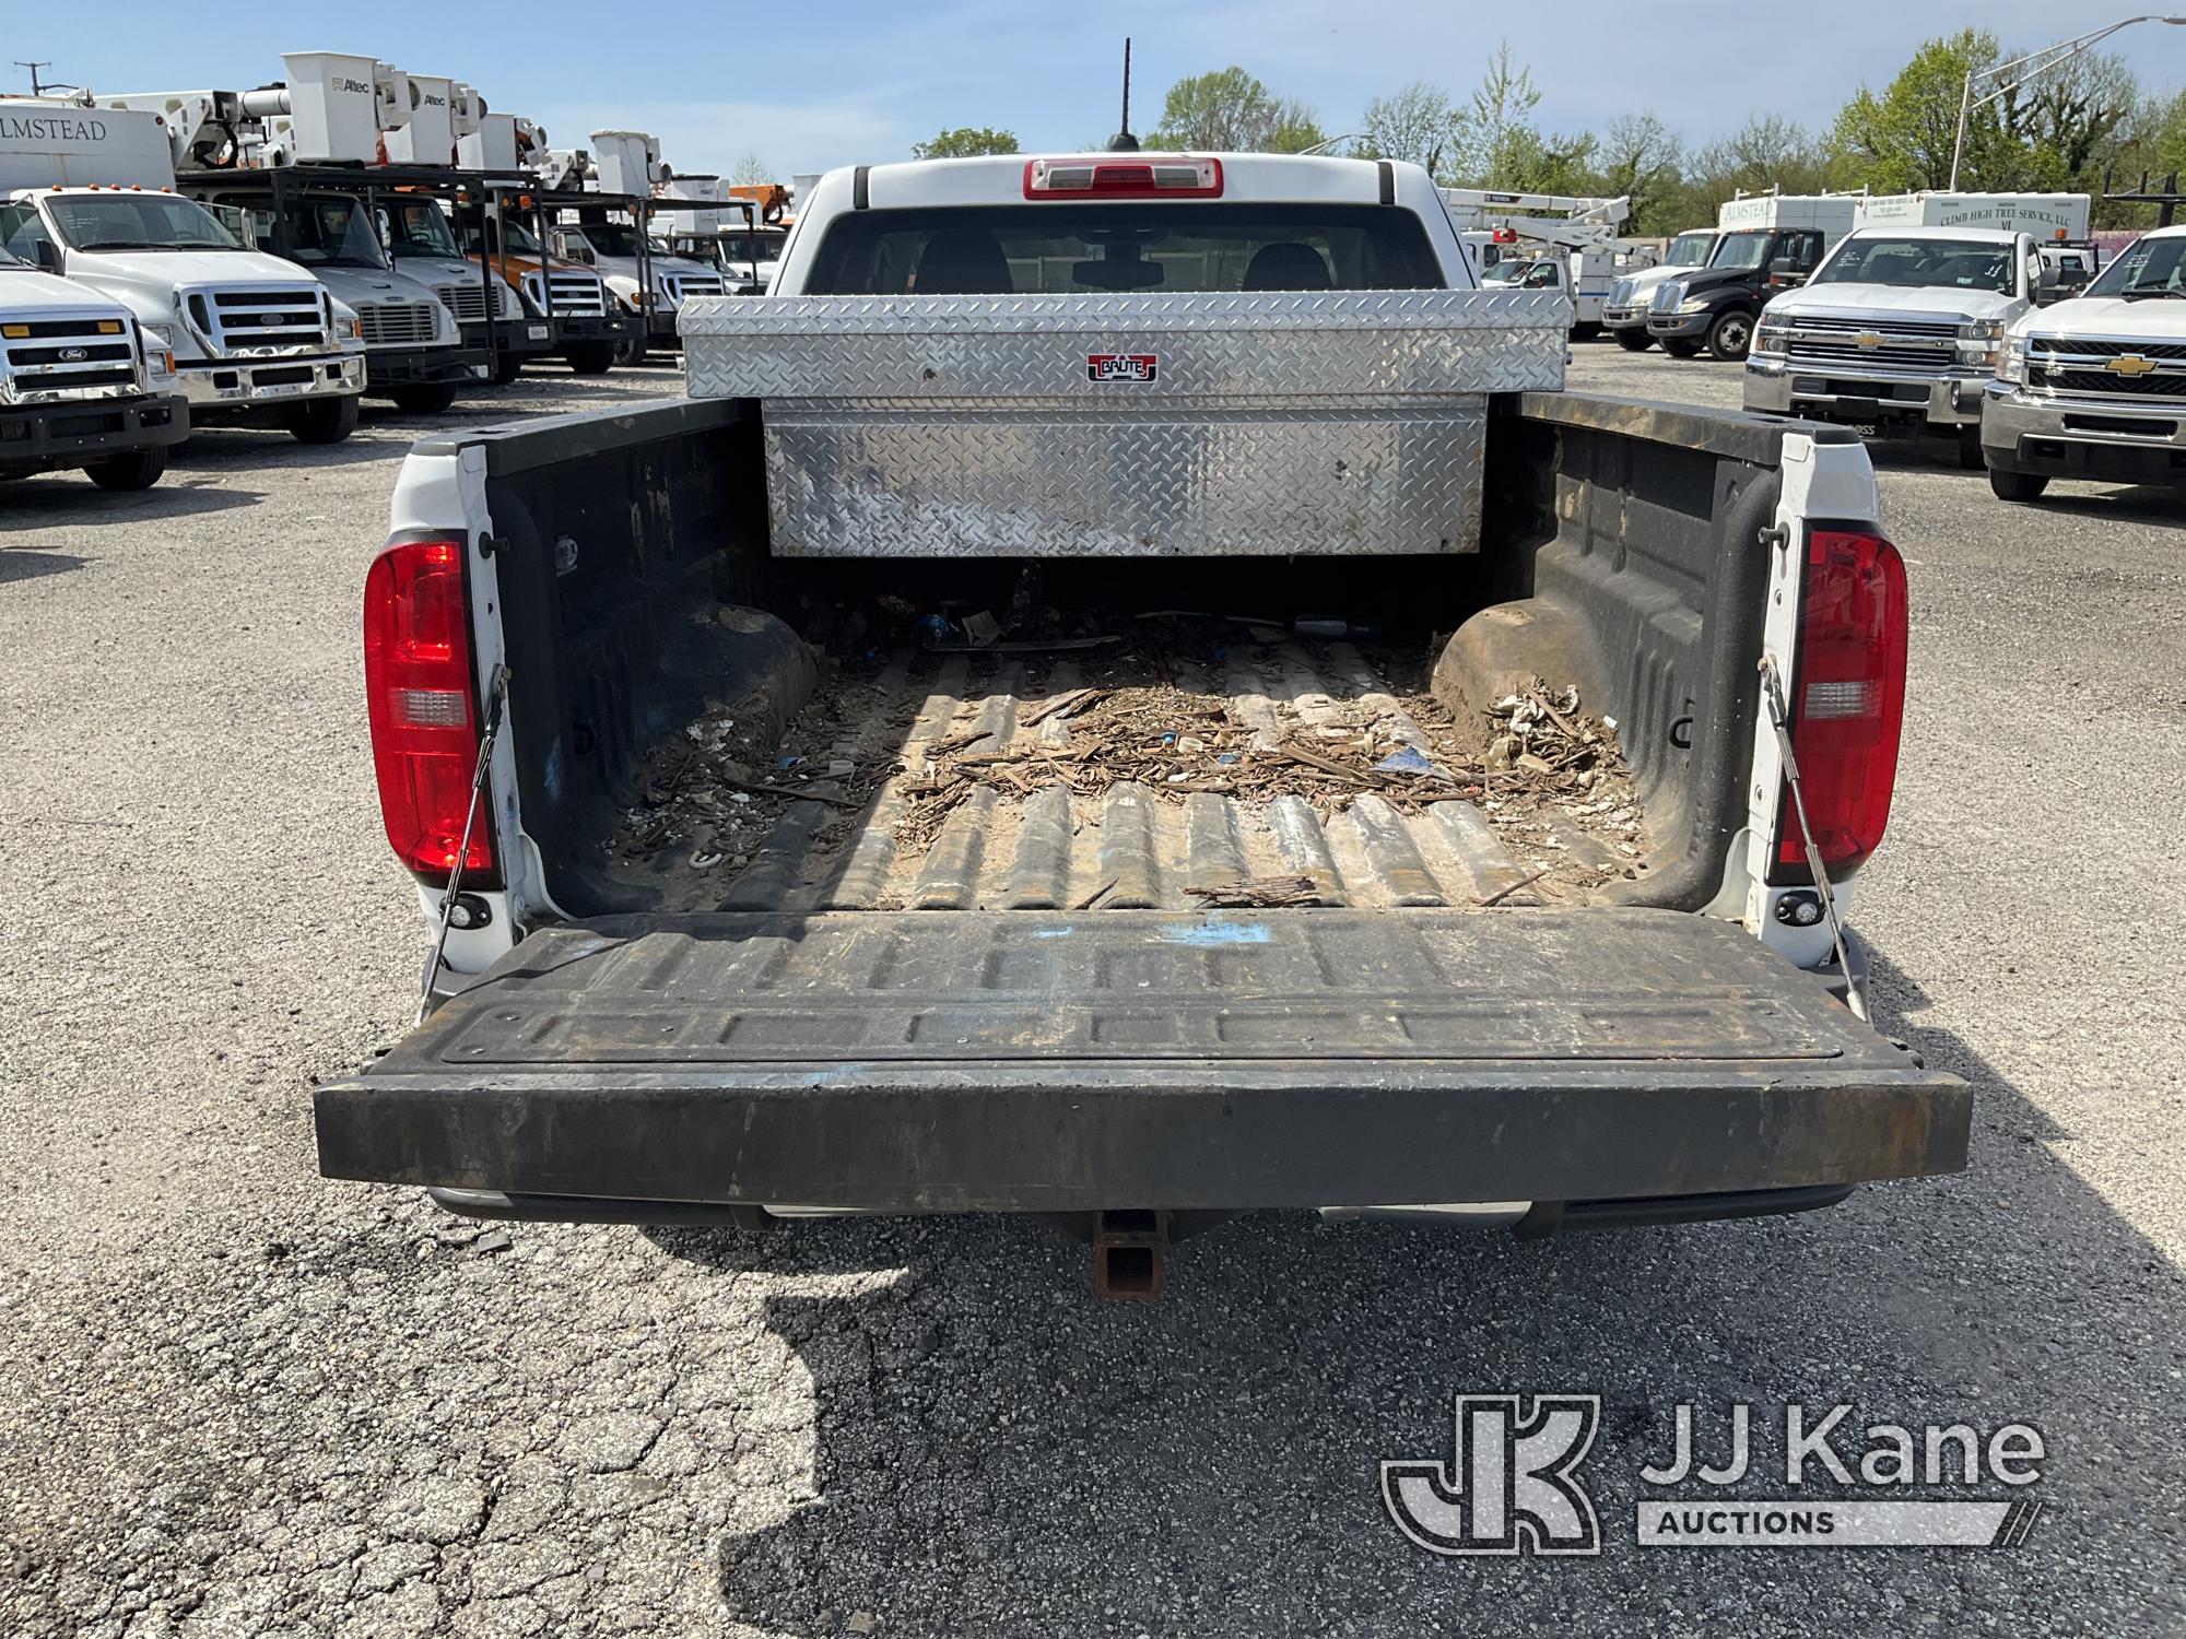
[[[267, 22], [280, 15], [302, 22]], [[520, 4], [212, 7], [0, 0], [7, 57], [52, 59], [103, 92], [245, 87], [280, 76], [280, 50], [374, 55], [477, 85], [544, 120], [555, 144], [595, 129], [654, 131], [678, 170], [728, 170], [759, 153], [780, 177], [907, 157], [944, 125], [1014, 129], [1027, 149], [1073, 149], [1115, 127], [1121, 37], [1135, 37], [1135, 125], [1152, 127], [1178, 76], [1242, 63], [1312, 103], [1327, 131], [1412, 79], [1469, 90], [1504, 37], [1532, 66], [1539, 118], [1572, 129], [1642, 107], [1688, 140], [1753, 111], [1825, 122], [1862, 79], [1882, 81], [1928, 35], [1985, 24], [2031, 48], [2109, 20], [2057, 0], [1200, 0], [1102, 7], [1054, 0], [520, 0]], [[2118, 4], [2116, 15], [2129, 15]], [[630, 31], [601, 26], [627, 17]], [[1823, 17], [1836, 17], [1825, 26]], [[258, 44], [262, 42], [262, 44]], [[2186, 83], [2186, 28], [2118, 37], [2144, 83]], [[7, 90], [28, 90], [0, 66]]]

